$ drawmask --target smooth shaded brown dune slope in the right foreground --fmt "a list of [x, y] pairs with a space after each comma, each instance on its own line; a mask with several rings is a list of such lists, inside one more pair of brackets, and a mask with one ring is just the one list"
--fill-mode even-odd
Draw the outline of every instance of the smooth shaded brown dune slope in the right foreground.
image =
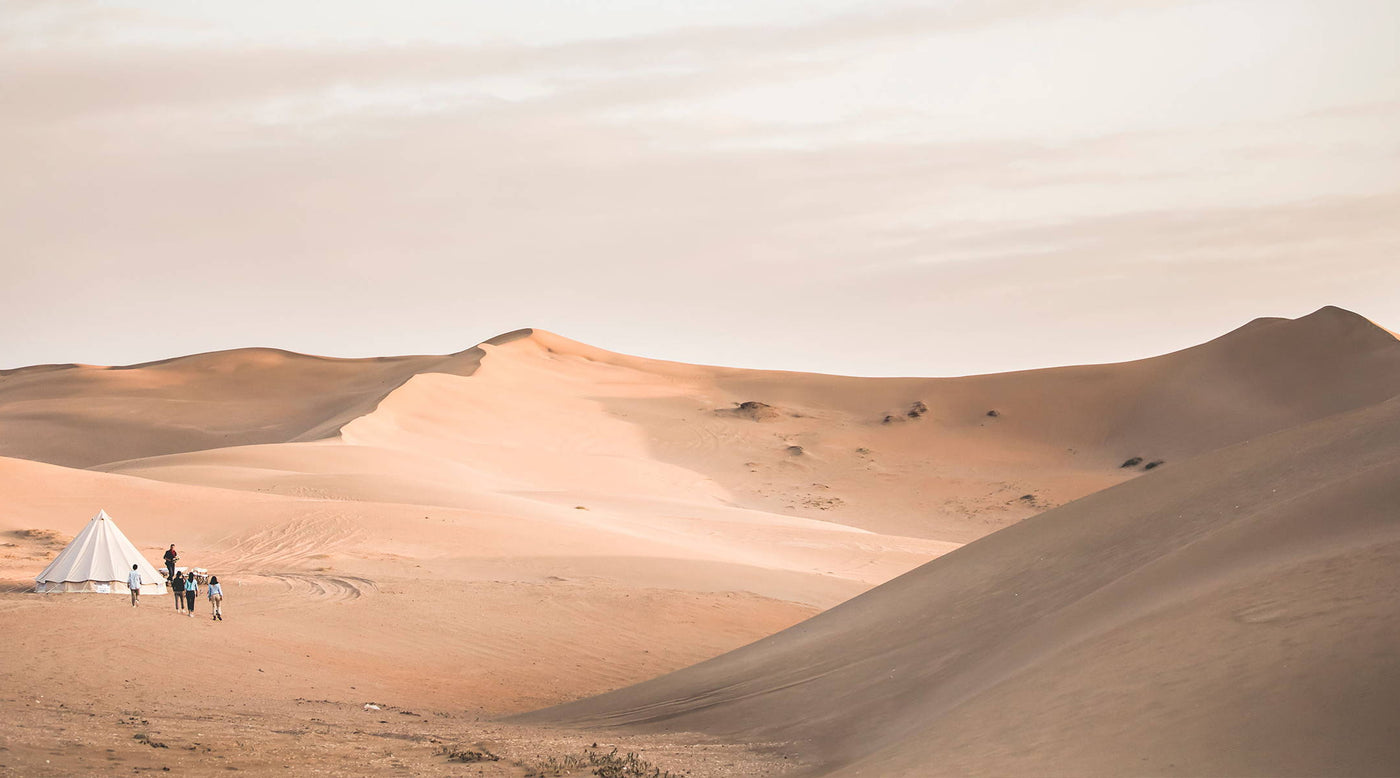
[[833, 775], [1400, 771], [1400, 400], [1162, 467], [535, 721]]

